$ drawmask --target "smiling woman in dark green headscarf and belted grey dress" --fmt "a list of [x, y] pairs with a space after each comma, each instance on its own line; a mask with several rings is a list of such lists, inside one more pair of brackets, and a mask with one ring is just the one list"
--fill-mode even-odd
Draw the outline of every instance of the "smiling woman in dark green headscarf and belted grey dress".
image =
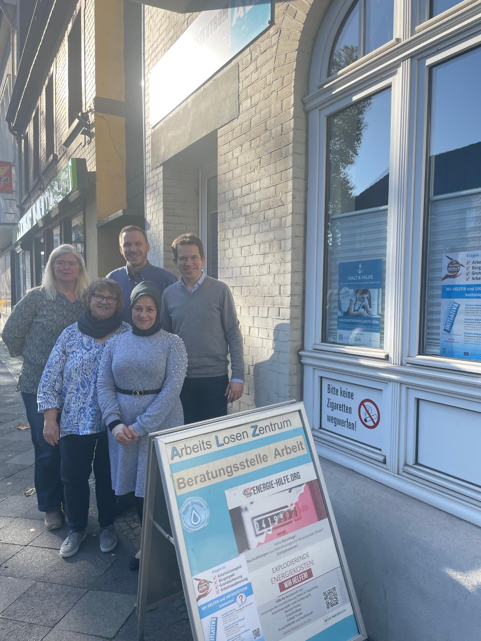
[[[130, 297], [133, 328], [105, 348], [97, 379], [102, 417], [110, 429], [115, 494], [135, 492], [142, 523], [148, 435], [183, 425], [180, 390], [187, 371], [181, 338], [160, 326], [160, 293], [142, 281]], [[140, 554], [130, 562], [139, 569]]]

